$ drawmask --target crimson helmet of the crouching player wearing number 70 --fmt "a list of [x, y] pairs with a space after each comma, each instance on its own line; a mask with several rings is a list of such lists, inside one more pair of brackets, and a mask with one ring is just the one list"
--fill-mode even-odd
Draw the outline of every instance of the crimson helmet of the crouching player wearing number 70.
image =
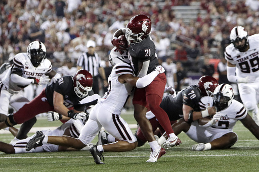
[[198, 87], [202, 96], [213, 96], [215, 88], [219, 85], [219, 82], [211, 76], [202, 76], [199, 79]]

